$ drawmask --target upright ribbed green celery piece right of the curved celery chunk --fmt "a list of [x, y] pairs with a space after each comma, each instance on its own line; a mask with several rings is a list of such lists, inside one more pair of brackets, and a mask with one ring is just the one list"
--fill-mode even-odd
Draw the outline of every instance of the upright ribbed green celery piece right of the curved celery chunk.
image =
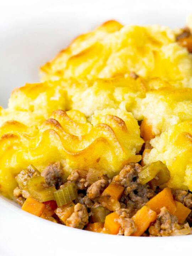
[[54, 196], [58, 207], [73, 201], [78, 197], [75, 183], [65, 183], [62, 188], [54, 192]]

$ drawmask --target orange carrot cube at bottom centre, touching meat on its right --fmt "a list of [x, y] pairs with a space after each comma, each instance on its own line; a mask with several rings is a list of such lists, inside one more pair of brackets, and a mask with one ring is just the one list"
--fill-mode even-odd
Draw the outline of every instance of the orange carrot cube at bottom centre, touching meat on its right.
[[117, 235], [121, 225], [115, 222], [115, 219], [118, 219], [119, 215], [116, 212], [110, 213], [105, 218], [104, 228], [107, 230], [108, 234]]

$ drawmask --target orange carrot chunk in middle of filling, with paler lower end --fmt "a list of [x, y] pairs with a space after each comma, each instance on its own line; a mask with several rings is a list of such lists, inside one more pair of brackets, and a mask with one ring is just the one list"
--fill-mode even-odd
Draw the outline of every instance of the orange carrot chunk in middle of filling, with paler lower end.
[[100, 204], [110, 211], [116, 211], [120, 208], [119, 199], [122, 196], [123, 190], [123, 186], [121, 186], [118, 182], [112, 181], [101, 194], [99, 198]]

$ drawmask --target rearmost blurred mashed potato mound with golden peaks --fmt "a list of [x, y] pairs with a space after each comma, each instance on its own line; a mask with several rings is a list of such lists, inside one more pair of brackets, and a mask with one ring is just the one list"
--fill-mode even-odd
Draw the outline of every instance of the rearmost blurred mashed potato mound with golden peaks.
[[110, 78], [133, 71], [143, 78], [182, 81], [192, 87], [192, 57], [175, 42], [172, 30], [156, 25], [117, 27], [101, 37], [98, 33], [103, 26], [97, 28], [91, 41], [89, 33], [77, 38], [42, 67], [43, 80]]

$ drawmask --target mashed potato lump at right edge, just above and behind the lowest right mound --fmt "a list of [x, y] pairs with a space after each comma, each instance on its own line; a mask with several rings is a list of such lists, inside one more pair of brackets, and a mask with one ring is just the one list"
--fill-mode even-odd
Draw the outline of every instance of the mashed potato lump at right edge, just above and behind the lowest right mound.
[[169, 86], [150, 90], [133, 113], [138, 120], [146, 118], [159, 135], [174, 124], [192, 120], [192, 89]]

